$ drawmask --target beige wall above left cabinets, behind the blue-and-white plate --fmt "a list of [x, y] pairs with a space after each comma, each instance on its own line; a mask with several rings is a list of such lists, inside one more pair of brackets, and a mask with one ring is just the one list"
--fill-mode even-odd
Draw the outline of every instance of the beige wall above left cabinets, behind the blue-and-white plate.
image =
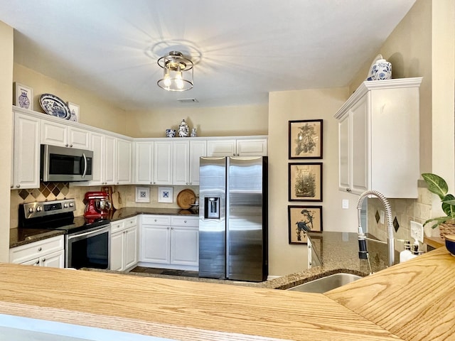
[[13, 80], [33, 89], [33, 110], [36, 112], [44, 112], [39, 104], [41, 94], [55, 94], [65, 102], [72, 102], [80, 106], [80, 123], [119, 134], [126, 132], [124, 110], [95, 97], [90, 92], [58, 82], [18, 63], [14, 63]]

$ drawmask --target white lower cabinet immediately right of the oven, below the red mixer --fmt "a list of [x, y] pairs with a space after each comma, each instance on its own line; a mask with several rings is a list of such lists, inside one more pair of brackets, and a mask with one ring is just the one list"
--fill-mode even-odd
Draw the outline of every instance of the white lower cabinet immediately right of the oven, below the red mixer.
[[127, 271], [137, 264], [137, 217], [111, 223], [110, 269]]

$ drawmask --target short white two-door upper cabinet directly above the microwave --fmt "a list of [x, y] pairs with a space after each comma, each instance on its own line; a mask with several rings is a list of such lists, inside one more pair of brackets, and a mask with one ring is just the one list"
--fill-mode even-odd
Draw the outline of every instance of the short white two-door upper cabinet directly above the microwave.
[[43, 120], [41, 124], [41, 144], [90, 149], [90, 133], [85, 129]]

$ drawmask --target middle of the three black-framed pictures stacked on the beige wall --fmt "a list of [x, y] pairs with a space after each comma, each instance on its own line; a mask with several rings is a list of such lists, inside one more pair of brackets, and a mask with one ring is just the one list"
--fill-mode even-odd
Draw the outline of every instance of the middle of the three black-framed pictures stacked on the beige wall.
[[322, 163], [289, 163], [289, 201], [322, 201]]

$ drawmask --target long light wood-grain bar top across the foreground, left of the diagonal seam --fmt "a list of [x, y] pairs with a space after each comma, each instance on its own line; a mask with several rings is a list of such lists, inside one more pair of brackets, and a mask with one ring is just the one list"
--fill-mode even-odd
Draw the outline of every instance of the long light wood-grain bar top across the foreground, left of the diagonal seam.
[[15, 264], [0, 313], [176, 340], [402, 340], [322, 294]]

